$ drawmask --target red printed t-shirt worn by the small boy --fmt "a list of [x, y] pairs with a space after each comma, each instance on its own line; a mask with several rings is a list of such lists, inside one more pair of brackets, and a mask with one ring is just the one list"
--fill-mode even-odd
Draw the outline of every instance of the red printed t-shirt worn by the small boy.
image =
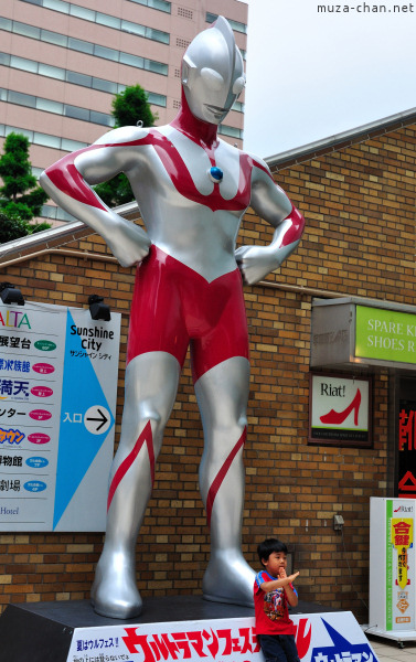
[[270, 592], [265, 592], [260, 588], [265, 581], [274, 581], [276, 577], [271, 577], [266, 570], [262, 570], [254, 580], [256, 634], [295, 634], [296, 628], [289, 618], [285, 589], [276, 588]]

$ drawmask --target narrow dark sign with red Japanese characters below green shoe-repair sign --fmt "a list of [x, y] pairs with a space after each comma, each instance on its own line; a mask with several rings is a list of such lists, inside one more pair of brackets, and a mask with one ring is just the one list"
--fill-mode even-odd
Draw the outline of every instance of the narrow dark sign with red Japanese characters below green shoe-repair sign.
[[398, 407], [397, 495], [416, 499], [416, 403], [401, 401]]

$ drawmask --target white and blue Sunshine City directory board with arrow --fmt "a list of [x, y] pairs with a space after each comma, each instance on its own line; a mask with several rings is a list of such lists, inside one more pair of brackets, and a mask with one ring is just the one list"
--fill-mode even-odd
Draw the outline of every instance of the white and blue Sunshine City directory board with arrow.
[[120, 314], [0, 306], [0, 531], [104, 531]]

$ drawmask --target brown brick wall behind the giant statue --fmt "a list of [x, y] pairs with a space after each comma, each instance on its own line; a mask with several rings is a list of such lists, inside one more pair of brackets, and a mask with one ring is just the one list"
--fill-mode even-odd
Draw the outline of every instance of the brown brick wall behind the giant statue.
[[[372, 449], [308, 446], [309, 288], [416, 303], [415, 142], [416, 127], [408, 126], [280, 164], [276, 181], [303, 212], [305, 237], [268, 285], [245, 288], [252, 386], [244, 553], [257, 567], [257, 543], [279, 536], [301, 573], [300, 597], [352, 609], [362, 622], [367, 622], [369, 500], [392, 495], [391, 377], [373, 373]], [[241, 241], [269, 237], [249, 211]], [[119, 421], [134, 270], [108, 256], [102, 239], [85, 233], [55, 252], [0, 268], [0, 280], [18, 285], [26, 299], [49, 303], [86, 307], [88, 295], [99, 292], [121, 312]], [[202, 446], [186, 361], [138, 545], [143, 596], [201, 590], [209, 554], [198, 489]], [[343, 536], [333, 531], [334, 512], [344, 517]], [[102, 543], [102, 534], [0, 533], [0, 605], [88, 598]]]

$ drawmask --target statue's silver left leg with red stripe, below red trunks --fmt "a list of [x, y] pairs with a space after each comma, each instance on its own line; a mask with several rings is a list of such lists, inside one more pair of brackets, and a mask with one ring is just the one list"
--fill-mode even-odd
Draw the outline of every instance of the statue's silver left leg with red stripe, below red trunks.
[[107, 528], [92, 588], [95, 611], [132, 618], [141, 611], [136, 585], [136, 538], [150, 499], [154, 462], [173, 407], [181, 365], [148, 352], [126, 369], [120, 444], [109, 480]]

